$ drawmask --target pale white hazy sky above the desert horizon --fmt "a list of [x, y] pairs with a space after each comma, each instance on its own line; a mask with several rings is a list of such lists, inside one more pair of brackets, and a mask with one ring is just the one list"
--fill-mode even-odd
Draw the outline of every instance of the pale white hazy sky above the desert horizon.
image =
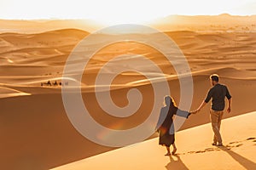
[[169, 14], [256, 14], [256, 0], [0, 0], [0, 19], [139, 23]]

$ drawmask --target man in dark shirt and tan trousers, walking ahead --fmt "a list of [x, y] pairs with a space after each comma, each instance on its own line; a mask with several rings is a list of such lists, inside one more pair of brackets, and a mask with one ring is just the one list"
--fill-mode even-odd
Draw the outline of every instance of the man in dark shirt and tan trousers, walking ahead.
[[223, 85], [218, 83], [218, 75], [213, 74], [210, 76], [210, 80], [212, 83], [212, 88], [208, 91], [207, 98], [202, 101], [201, 105], [199, 108], [196, 110], [196, 112], [201, 111], [201, 108], [203, 108], [207, 103], [212, 99], [212, 107], [210, 110], [210, 115], [211, 115], [211, 121], [212, 121], [212, 130], [214, 133], [214, 138], [213, 138], [213, 143], [212, 145], [216, 146], [222, 146], [222, 138], [219, 133], [220, 129], [220, 123], [222, 120], [222, 116], [224, 114], [224, 107], [225, 107], [225, 97], [229, 100], [229, 105], [227, 112], [230, 113], [231, 111], [231, 95], [228, 90], [228, 88]]

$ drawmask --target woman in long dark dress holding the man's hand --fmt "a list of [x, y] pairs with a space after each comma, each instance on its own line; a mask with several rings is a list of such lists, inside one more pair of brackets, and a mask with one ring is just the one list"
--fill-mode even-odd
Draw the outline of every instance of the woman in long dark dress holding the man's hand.
[[167, 153], [165, 156], [170, 156], [171, 145], [173, 146], [172, 155], [174, 155], [177, 151], [177, 147], [175, 145], [174, 127], [172, 126], [172, 116], [177, 115], [188, 118], [190, 113], [188, 111], [179, 110], [171, 96], [165, 97], [164, 105], [165, 106], [162, 107], [160, 111], [157, 131], [160, 133], [159, 144], [166, 146]]

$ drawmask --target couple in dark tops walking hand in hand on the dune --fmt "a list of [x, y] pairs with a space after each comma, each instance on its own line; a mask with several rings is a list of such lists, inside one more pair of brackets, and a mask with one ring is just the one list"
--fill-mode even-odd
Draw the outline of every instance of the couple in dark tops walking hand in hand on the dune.
[[[174, 127], [172, 126], [172, 116], [177, 115], [177, 116], [183, 116], [183, 117], [189, 117], [190, 114], [196, 114], [201, 109], [207, 105], [207, 103], [212, 99], [212, 107], [210, 110], [210, 116], [211, 116], [211, 121], [212, 121], [212, 130], [214, 133], [213, 137], [213, 143], [212, 145], [216, 146], [222, 146], [222, 138], [221, 134], [219, 133], [220, 129], [220, 123], [222, 120], [222, 116], [224, 114], [224, 107], [225, 107], [225, 102], [224, 99], [225, 97], [228, 99], [229, 104], [228, 104], [228, 109], [227, 112], [230, 113], [231, 111], [231, 95], [228, 90], [228, 88], [223, 85], [218, 83], [218, 75], [213, 74], [210, 76], [210, 81], [212, 84], [212, 88], [209, 89], [207, 98], [204, 99], [201, 103], [201, 105], [198, 107], [197, 110], [195, 111], [181, 111], [177, 108], [177, 105], [175, 104], [174, 99], [172, 99], [171, 96], [166, 96], [164, 104], [165, 106], [161, 108], [160, 111], [160, 119], [157, 129], [157, 131], [160, 133], [160, 139], [159, 139], [159, 144], [166, 146], [166, 156], [170, 156], [170, 146], [173, 146], [172, 150], [172, 155], [174, 155], [177, 151], [177, 147], [175, 145], [175, 137], [174, 137]], [[164, 120], [161, 120], [164, 119]], [[160, 124], [160, 122], [162, 122]]]

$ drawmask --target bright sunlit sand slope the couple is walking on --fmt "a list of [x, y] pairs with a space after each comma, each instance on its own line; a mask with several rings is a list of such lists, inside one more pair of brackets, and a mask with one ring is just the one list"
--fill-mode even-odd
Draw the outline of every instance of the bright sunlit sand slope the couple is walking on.
[[255, 123], [256, 112], [224, 120], [223, 147], [211, 145], [212, 129], [206, 124], [177, 133], [176, 156], [164, 156], [158, 139], [150, 139], [54, 169], [255, 169]]

